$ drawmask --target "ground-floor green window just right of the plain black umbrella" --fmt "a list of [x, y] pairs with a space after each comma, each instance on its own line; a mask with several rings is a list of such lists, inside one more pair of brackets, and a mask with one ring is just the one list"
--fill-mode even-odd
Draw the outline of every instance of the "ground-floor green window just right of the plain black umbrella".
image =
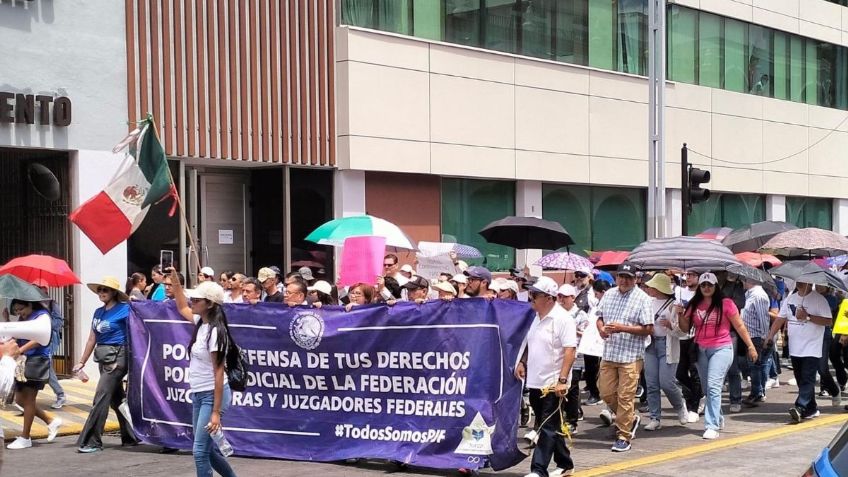
[[645, 191], [544, 184], [542, 216], [562, 224], [570, 250], [631, 250], [645, 240]]

